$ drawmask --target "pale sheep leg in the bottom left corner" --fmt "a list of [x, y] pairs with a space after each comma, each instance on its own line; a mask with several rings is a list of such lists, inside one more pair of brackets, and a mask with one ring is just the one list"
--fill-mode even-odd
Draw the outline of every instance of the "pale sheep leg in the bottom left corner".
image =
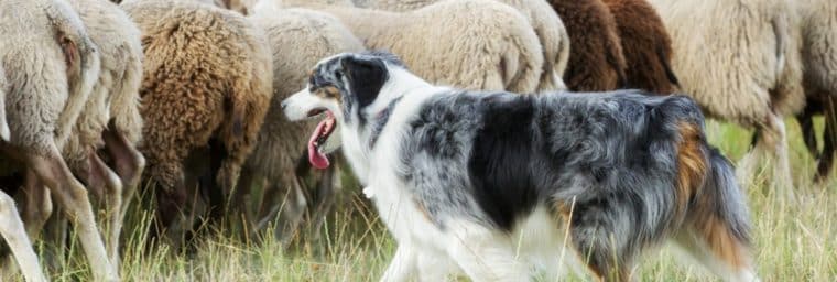
[[37, 262], [37, 256], [32, 249], [32, 242], [23, 228], [18, 207], [12, 197], [2, 192], [0, 192], [0, 235], [9, 245], [26, 281], [46, 281], [41, 263]]

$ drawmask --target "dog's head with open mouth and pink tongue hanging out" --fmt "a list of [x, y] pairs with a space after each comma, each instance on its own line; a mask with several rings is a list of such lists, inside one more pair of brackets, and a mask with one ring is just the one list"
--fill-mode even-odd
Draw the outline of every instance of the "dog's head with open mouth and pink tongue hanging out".
[[319, 62], [307, 87], [282, 102], [291, 120], [325, 115], [308, 141], [312, 165], [328, 167], [325, 154], [340, 145], [339, 134], [333, 134], [338, 123], [352, 127], [366, 123], [366, 109], [376, 102], [390, 80], [390, 67], [402, 64], [389, 53], [339, 54]]

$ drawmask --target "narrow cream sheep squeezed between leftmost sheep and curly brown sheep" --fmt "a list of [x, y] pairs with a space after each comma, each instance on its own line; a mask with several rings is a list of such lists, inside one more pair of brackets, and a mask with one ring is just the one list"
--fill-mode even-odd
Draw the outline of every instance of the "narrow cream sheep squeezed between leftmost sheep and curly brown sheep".
[[[106, 199], [106, 245], [116, 263], [121, 221], [144, 167], [134, 147], [142, 130], [140, 31], [124, 11], [106, 0], [70, 0], [69, 4], [98, 46], [101, 67], [63, 155], [94, 195]], [[97, 151], [110, 156], [116, 172]]]

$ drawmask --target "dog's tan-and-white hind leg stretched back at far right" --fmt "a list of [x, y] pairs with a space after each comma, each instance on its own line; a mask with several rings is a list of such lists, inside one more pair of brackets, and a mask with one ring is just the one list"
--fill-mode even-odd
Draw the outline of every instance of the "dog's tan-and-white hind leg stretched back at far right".
[[681, 231], [674, 238], [678, 250], [726, 281], [756, 282], [747, 245], [732, 236], [718, 220]]

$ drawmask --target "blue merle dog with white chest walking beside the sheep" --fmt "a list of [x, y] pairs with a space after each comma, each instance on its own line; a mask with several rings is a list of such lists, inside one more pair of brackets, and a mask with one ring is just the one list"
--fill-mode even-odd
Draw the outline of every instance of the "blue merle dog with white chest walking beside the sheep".
[[325, 58], [282, 108], [324, 117], [311, 163], [341, 147], [398, 241], [382, 281], [553, 280], [562, 265], [629, 281], [665, 242], [721, 279], [758, 281], [746, 198], [703, 113], [643, 94], [454, 89], [369, 52]]

